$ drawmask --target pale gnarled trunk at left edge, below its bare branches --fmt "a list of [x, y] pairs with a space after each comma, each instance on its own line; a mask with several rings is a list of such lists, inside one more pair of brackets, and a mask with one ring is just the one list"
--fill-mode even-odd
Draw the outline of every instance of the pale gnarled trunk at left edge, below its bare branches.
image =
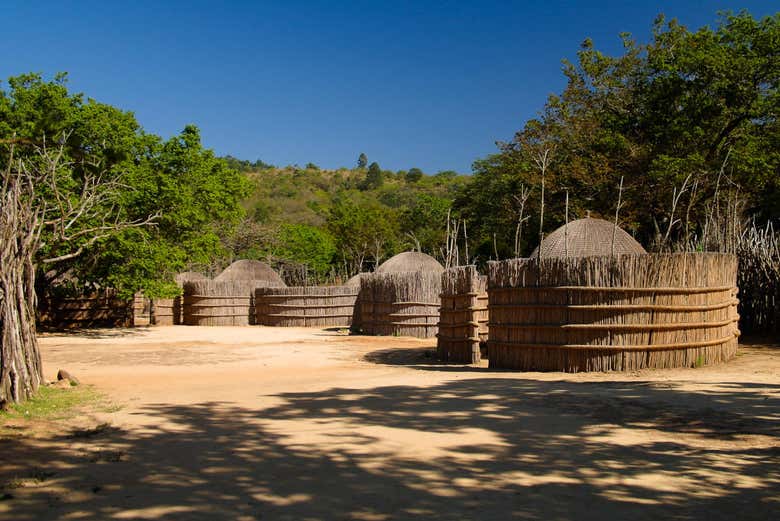
[[0, 266], [0, 403], [30, 398], [43, 381], [35, 336], [35, 272], [28, 259]]

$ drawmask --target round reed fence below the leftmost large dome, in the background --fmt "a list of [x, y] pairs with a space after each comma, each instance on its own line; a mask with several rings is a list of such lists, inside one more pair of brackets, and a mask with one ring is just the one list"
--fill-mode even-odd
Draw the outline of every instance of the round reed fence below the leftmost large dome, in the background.
[[184, 283], [188, 326], [248, 326], [255, 323], [255, 290], [267, 281], [196, 280]]

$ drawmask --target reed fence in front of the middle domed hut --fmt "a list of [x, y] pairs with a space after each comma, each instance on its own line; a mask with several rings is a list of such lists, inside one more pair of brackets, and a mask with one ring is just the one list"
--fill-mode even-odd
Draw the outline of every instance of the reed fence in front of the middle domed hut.
[[367, 335], [432, 338], [438, 332], [441, 274], [363, 275], [353, 328]]

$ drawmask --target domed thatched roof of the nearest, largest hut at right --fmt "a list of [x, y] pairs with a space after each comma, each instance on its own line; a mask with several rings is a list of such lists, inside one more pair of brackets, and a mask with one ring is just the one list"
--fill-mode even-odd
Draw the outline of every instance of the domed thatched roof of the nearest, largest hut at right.
[[[614, 235], [615, 247], [612, 249]], [[602, 219], [578, 219], [561, 226], [544, 238], [531, 258], [542, 251], [548, 257], [590, 257], [597, 255], [639, 255], [647, 253], [641, 244], [620, 227]]]

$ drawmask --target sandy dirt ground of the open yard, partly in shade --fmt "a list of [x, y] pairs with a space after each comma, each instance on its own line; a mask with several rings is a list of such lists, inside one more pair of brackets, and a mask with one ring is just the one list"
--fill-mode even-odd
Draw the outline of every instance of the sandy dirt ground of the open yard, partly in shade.
[[0, 519], [778, 519], [780, 346], [576, 375], [443, 365], [433, 347], [263, 327], [44, 336], [48, 378], [66, 368], [117, 407], [0, 441], [0, 486], [18, 485]]

